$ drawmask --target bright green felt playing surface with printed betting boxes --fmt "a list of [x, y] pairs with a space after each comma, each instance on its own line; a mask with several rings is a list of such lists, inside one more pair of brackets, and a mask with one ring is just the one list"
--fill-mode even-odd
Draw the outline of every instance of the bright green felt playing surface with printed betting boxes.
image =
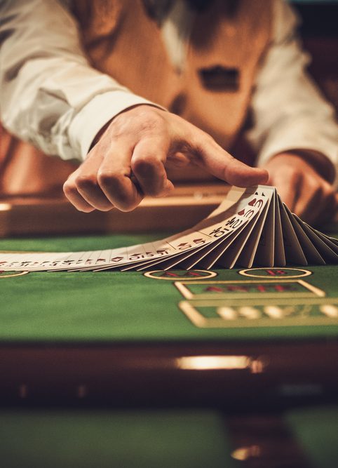
[[[163, 234], [4, 239], [0, 250], [98, 250], [160, 237]], [[332, 310], [338, 307], [338, 267], [295, 268], [310, 275], [294, 278], [285, 270], [286, 276], [271, 277], [265, 271], [257, 278], [223, 269], [215, 270], [213, 278], [183, 281], [178, 287], [142, 272], [34, 272], [7, 279], [0, 275], [0, 340], [175, 342], [337, 336], [338, 320]], [[271, 281], [279, 281], [279, 286], [269, 285]], [[243, 307], [248, 306], [258, 310], [259, 319], [245, 315]], [[276, 310], [269, 306], [284, 307], [285, 316], [273, 318]], [[222, 318], [219, 312], [229, 307], [244, 315]]]

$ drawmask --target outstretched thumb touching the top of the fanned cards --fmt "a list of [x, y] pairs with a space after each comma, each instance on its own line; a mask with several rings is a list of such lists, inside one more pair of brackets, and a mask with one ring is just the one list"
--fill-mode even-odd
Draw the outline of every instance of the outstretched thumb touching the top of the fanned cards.
[[204, 138], [198, 145], [201, 158], [199, 165], [215, 177], [237, 187], [265, 184], [269, 174], [265, 169], [252, 168], [238, 161], [212, 140]]

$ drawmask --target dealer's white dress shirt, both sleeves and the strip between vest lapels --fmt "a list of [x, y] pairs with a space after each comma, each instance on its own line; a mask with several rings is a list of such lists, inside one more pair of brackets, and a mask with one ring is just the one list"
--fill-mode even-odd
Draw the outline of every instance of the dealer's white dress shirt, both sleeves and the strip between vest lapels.
[[[0, 0], [0, 116], [4, 126], [46, 154], [86, 158], [112, 117], [149, 101], [90, 67], [69, 1]], [[191, 20], [177, 0], [161, 27], [170, 60], [184, 67]], [[338, 167], [334, 109], [306, 74], [309, 57], [295, 34], [297, 17], [273, 2], [271, 46], [255, 81], [247, 138], [262, 166], [275, 154], [310, 149]]]

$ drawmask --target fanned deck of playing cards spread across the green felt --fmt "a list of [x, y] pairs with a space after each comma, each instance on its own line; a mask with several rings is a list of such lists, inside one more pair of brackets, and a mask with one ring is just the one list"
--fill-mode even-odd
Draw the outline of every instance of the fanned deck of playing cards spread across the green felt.
[[232, 187], [208, 218], [160, 241], [111, 250], [0, 253], [3, 271], [283, 267], [338, 263], [338, 240], [290, 213], [276, 188]]

